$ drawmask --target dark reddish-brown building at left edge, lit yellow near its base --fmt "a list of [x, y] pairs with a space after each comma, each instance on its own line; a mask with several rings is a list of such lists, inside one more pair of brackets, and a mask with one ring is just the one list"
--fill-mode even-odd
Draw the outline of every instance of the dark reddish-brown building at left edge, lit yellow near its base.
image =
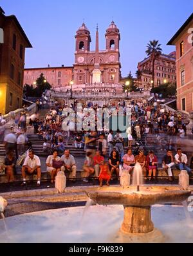
[[5, 16], [1, 8], [0, 28], [0, 112], [6, 114], [22, 107], [25, 48], [32, 45], [17, 18]]

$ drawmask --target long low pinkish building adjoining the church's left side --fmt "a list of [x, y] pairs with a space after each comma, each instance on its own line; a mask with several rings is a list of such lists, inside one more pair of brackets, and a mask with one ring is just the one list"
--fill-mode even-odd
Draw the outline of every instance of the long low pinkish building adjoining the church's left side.
[[73, 67], [47, 67], [24, 70], [24, 85], [34, 85], [41, 74], [52, 88], [62, 88], [70, 85], [73, 80]]

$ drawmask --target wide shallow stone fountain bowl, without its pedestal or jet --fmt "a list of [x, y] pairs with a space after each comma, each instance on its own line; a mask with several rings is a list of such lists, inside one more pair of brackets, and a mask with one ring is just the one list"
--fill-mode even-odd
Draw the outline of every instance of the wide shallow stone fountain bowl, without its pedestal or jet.
[[136, 187], [120, 189], [109, 187], [98, 189], [88, 193], [96, 204], [100, 205], [125, 205], [125, 206], [152, 206], [154, 204], [174, 204], [183, 202], [191, 195], [191, 191], [183, 191], [176, 187], [140, 187], [140, 192]]

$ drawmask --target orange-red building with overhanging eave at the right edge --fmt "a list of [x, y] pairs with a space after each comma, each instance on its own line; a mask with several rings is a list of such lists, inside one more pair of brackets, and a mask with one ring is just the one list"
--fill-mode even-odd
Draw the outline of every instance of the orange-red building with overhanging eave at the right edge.
[[170, 39], [176, 45], [177, 107], [193, 111], [193, 13]]

